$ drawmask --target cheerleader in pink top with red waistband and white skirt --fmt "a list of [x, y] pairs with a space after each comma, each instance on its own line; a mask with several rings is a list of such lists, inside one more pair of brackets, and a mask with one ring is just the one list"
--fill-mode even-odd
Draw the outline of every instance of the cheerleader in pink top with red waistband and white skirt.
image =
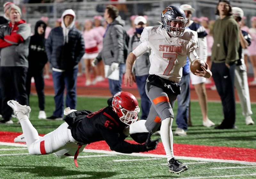
[[[84, 24], [84, 45], [85, 45], [85, 53], [84, 53], [84, 65], [85, 65], [85, 77], [86, 82], [85, 86], [89, 86], [91, 84], [95, 84], [95, 77], [97, 76], [97, 72], [95, 67], [91, 65], [92, 60], [97, 57], [99, 50], [98, 45], [102, 43], [103, 37], [94, 29], [92, 29], [92, 21], [86, 19]], [[92, 68], [93, 79], [91, 80], [90, 70]]]

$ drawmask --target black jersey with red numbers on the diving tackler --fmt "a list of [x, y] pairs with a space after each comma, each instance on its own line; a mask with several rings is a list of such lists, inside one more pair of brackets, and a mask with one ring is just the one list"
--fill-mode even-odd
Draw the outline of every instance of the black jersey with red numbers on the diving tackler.
[[71, 128], [74, 139], [82, 144], [105, 140], [111, 150], [122, 153], [147, 151], [145, 145], [130, 144], [124, 141], [125, 123], [108, 106], [94, 113], [84, 116]]

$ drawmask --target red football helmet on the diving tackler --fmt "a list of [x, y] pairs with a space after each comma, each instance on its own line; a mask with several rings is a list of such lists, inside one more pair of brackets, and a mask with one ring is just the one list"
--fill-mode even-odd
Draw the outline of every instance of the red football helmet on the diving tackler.
[[112, 100], [112, 108], [119, 119], [127, 125], [138, 120], [137, 114], [140, 112], [140, 107], [135, 96], [129, 92], [116, 93]]

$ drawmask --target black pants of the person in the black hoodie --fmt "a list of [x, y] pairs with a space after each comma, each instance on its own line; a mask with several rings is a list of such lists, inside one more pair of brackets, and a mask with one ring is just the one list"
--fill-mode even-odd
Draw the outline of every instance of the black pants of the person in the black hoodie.
[[45, 97], [44, 97], [44, 68], [42, 69], [30, 69], [28, 68], [27, 80], [26, 80], [26, 91], [28, 95], [29, 105], [29, 94], [31, 90], [31, 78], [35, 79], [36, 93], [38, 96], [38, 106], [40, 111], [44, 111]]

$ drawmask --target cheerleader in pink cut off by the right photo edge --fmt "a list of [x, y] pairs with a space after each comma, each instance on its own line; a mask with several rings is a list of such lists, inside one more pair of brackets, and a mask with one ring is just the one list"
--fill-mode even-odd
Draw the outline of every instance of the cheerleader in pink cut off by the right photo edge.
[[251, 45], [247, 47], [248, 55], [252, 63], [254, 80], [250, 82], [252, 85], [256, 85], [256, 16], [251, 18], [251, 28], [249, 29], [249, 34], [251, 35]]

